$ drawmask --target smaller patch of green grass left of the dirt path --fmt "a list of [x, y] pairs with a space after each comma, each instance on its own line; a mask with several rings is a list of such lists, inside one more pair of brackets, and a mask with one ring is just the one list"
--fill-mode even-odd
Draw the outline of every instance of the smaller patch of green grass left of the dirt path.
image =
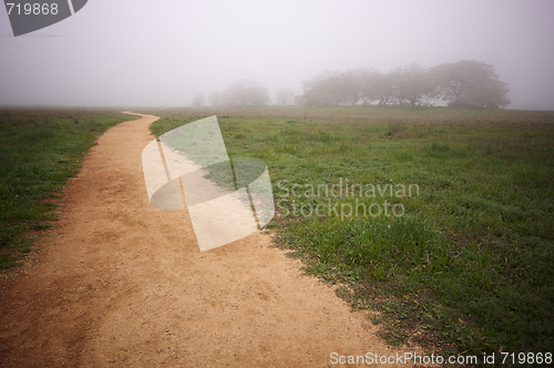
[[103, 110], [0, 110], [0, 270], [55, 219], [57, 200], [107, 127], [140, 116]]

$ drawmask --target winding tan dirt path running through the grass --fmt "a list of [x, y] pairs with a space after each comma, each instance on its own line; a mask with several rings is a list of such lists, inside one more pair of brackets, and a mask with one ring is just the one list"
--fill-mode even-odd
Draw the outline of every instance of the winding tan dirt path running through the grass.
[[186, 209], [151, 206], [141, 153], [155, 120], [99, 139], [62, 227], [1, 280], [0, 366], [327, 367], [334, 351], [393, 352], [269, 236], [201, 253]]

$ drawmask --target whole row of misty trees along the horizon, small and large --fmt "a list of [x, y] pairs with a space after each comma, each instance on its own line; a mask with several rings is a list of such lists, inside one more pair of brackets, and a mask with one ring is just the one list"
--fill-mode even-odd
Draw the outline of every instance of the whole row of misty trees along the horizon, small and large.
[[[424, 106], [442, 100], [449, 106], [500, 109], [507, 106], [510, 89], [494, 65], [461, 60], [424, 68], [413, 63], [388, 73], [376, 69], [324, 72], [302, 82], [302, 94], [291, 89], [276, 91], [277, 104], [305, 106], [378, 105]], [[214, 106], [254, 106], [271, 102], [269, 91], [253, 80], [239, 80], [209, 96]], [[204, 105], [197, 94], [193, 105]]]

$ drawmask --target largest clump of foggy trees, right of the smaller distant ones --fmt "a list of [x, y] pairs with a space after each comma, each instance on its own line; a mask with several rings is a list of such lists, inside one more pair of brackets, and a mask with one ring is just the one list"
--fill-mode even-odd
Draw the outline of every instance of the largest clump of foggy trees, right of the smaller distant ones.
[[324, 72], [302, 82], [296, 103], [308, 106], [372, 104], [402, 106], [442, 99], [452, 106], [497, 109], [510, 104], [507, 84], [494, 67], [462, 60], [430, 68], [413, 63], [383, 74], [375, 69]]

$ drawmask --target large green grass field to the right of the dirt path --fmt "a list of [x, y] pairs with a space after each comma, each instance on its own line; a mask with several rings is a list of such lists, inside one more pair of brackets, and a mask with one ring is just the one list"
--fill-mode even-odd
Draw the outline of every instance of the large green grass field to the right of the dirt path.
[[263, 159], [278, 246], [378, 311], [389, 343], [554, 350], [553, 112], [148, 113], [155, 135], [215, 114], [230, 157]]

